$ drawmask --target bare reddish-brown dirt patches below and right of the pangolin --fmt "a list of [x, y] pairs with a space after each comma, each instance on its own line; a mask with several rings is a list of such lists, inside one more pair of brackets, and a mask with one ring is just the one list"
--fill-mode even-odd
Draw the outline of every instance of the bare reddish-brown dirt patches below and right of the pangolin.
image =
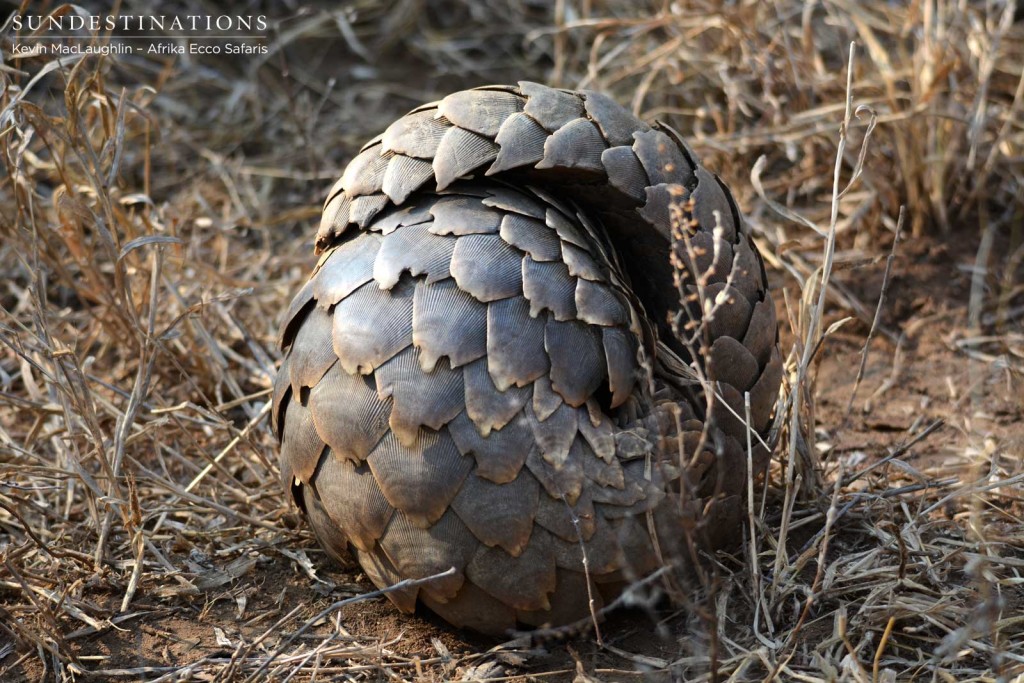
[[[923, 425], [934, 421], [941, 421], [941, 426], [900, 458], [900, 468], [883, 470], [890, 479], [888, 486], [934, 481], [936, 473], [959, 471], [973, 450], [992, 443], [998, 443], [1007, 457], [1020, 457], [1024, 403], [1019, 380], [1011, 378], [1009, 370], [973, 359], [964, 350], [973, 349], [965, 341], [972, 338], [969, 296], [977, 248], [970, 236], [937, 247], [900, 248], [881, 318], [884, 332], [869, 349], [849, 415], [847, 405], [869, 326], [853, 321], [826, 342], [817, 367], [816, 409], [826, 462], [845, 459], [851, 468], [878, 462], [906, 443], [908, 434], [920, 433]], [[882, 290], [885, 253], [876, 256], [839, 276], [845, 290], [864, 302], [878, 301]], [[779, 292], [795, 287], [782, 273], [772, 278]], [[783, 304], [778, 313], [784, 319]], [[166, 674], [167, 680], [178, 680], [181, 668], [189, 664], [222, 666], [255, 643], [272, 650], [294, 633], [296, 624], [333, 602], [373, 590], [357, 565], [339, 566], [325, 556], [294, 508], [282, 522], [295, 527], [295, 533], [263, 549], [233, 580], [187, 597], [170, 597], [173, 585], [154, 587], [153, 594], [133, 603], [123, 621], [100, 633], [80, 629], [68, 636], [69, 651], [83, 666], [102, 670], [111, 679], [164, 680], [160, 677]], [[820, 526], [818, 522], [795, 537], [795, 549]], [[1017, 557], [1024, 560], [1024, 551]], [[226, 569], [222, 560], [204, 557], [195, 549], [190, 555], [168, 559], [175, 566], [191, 567], [199, 577]], [[737, 573], [726, 581], [742, 579]], [[116, 582], [108, 583], [102, 573], [90, 581], [90, 601], [97, 612], [120, 600], [122, 587]], [[165, 591], [168, 599], [161, 599]], [[1024, 606], [1019, 590], [1009, 597]], [[288, 615], [292, 615], [289, 628], [279, 630], [279, 620]], [[486, 680], [587, 680], [578, 678], [580, 671], [606, 681], [670, 680], [668, 673], [642, 672], [677, 659], [681, 643], [692, 636], [691, 626], [685, 614], [663, 604], [654, 611], [633, 609], [611, 615], [602, 627], [610, 647], [598, 646], [592, 633], [541, 641], [524, 636], [502, 644], [454, 630], [426, 611], [406, 616], [385, 598], [376, 597], [333, 612], [302, 638], [319, 641], [337, 630], [336, 641], [350, 649], [344, 667], [323, 668], [323, 680], [340, 673], [356, 680], [360, 671], [372, 673], [368, 680], [386, 676], [440, 681], [474, 673]], [[809, 640], [813, 633], [808, 632]], [[3, 680], [44, 677], [39, 660], [17, 664], [13, 658], [0, 660]], [[282, 656], [280, 664], [287, 671], [294, 657]], [[217, 680], [231, 680], [229, 673], [222, 671], [219, 676]]]

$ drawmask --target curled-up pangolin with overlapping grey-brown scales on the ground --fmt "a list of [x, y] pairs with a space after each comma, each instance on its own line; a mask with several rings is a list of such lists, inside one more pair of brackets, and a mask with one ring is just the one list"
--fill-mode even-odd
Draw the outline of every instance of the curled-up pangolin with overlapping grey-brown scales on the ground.
[[687, 536], [738, 540], [775, 311], [732, 196], [672, 129], [595, 92], [457, 92], [362, 147], [316, 248], [282, 328], [282, 477], [377, 586], [455, 567], [400, 609], [565, 624]]

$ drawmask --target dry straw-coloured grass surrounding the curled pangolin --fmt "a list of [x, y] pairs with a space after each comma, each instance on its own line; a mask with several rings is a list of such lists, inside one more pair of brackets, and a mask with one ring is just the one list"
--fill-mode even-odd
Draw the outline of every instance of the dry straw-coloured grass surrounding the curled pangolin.
[[[420, 101], [518, 79], [606, 90], [686, 133], [786, 292], [773, 486], [742, 552], [716, 560], [710, 625], [667, 620], [683, 634], [668, 652], [605, 628], [587, 675], [1024, 672], [1024, 439], [992, 427], [998, 395], [1024, 419], [1024, 24], [1013, 3], [713, 4], [356, 0], [271, 14], [263, 57], [205, 60], [15, 58], [8, 26], [0, 679], [572, 677], [564, 652], [586, 639], [550, 645], [550, 665], [523, 643], [452, 652], [415, 620], [315, 622], [365, 587], [325, 573], [265, 420], [278, 315], [344, 163]], [[961, 308], [893, 322], [856, 286], [890, 248], [944, 241], [977, 250]], [[906, 346], [942, 330], [969, 378], [943, 424], [922, 409], [889, 447], [844, 447], [914, 371]], [[829, 411], [816, 379], [843, 335], [892, 381], [867, 364]]]

